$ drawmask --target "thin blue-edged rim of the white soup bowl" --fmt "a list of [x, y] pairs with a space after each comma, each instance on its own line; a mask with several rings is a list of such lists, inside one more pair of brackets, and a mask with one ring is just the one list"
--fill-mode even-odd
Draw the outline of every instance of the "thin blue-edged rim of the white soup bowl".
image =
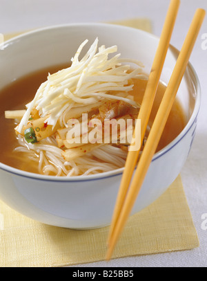
[[[148, 33], [144, 30], [139, 30], [137, 28], [133, 28], [133, 27], [128, 27], [128, 26], [121, 26], [118, 24], [105, 24], [105, 23], [90, 23], [90, 22], [83, 22], [83, 23], [72, 23], [72, 24], [60, 24], [60, 25], [53, 25], [53, 26], [46, 26], [43, 28], [37, 28], [35, 30], [30, 30], [26, 33], [23, 33], [21, 35], [17, 35], [15, 37], [12, 37], [11, 39], [6, 40], [5, 42], [3, 42], [2, 44], [0, 44], [0, 48], [1, 46], [3, 46], [3, 48], [5, 48], [5, 46], [9, 46], [10, 44], [12, 44], [12, 42], [14, 42], [15, 40], [19, 40], [22, 37], [28, 37], [30, 35], [36, 34], [36, 33], [41, 33], [41, 32], [46, 32], [47, 30], [55, 30], [58, 28], [72, 28], [72, 27], [92, 27], [92, 26], [105, 26], [108, 28], [119, 28], [119, 29], [130, 29], [130, 30], [136, 30], [137, 33], [142, 33], [145, 35], [148, 35], [149, 37], [152, 37], [153, 39], [159, 40], [159, 37], [157, 35], [153, 35], [152, 33]], [[179, 50], [177, 48], [175, 48], [175, 46], [172, 46], [170, 44], [169, 49], [173, 49], [173, 51], [177, 52], [177, 54], [179, 54]], [[181, 141], [182, 138], [184, 138], [184, 136], [186, 136], [186, 134], [188, 134], [189, 130], [191, 129], [191, 127], [193, 127], [193, 124], [195, 123], [195, 120], [197, 120], [197, 116], [199, 114], [199, 107], [201, 104], [201, 85], [199, 82], [199, 78], [197, 76], [197, 73], [193, 67], [193, 65], [190, 63], [190, 61], [188, 62], [188, 67], [193, 75], [193, 78], [195, 80], [194, 86], [195, 86], [195, 91], [196, 91], [196, 98], [195, 98], [195, 106], [193, 108], [193, 112], [188, 120], [188, 123], [186, 123], [186, 126], [184, 127], [184, 129], [181, 131], [181, 133], [173, 140], [171, 141], [168, 145], [166, 145], [163, 149], [159, 150], [159, 152], [155, 153], [155, 155], [152, 158], [152, 162], [156, 161], [158, 158], [160, 158], [161, 156], [163, 156], [164, 154], [166, 154], [167, 152], [169, 152], [173, 147], [175, 147], [175, 145], [177, 145], [177, 143], [179, 143], [179, 141]], [[23, 170], [19, 170], [17, 168], [11, 167], [9, 165], [6, 165], [4, 163], [0, 162], [0, 169], [6, 172], [9, 172], [11, 174], [17, 175], [17, 176], [23, 176], [29, 179], [35, 179], [35, 180], [39, 180], [39, 181], [52, 181], [52, 182], [81, 182], [81, 181], [95, 181], [95, 180], [100, 180], [100, 179], [108, 179], [112, 176], [120, 176], [123, 171], [124, 171], [124, 167], [121, 167], [119, 169], [116, 170], [112, 170], [109, 172], [101, 172], [99, 174], [91, 174], [91, 175], [86, 175], [86, 176], [71, 176], [71, 177], [67, 177], [67, 176], [47, 176], [44, 174], [35, 174], [32, 172], [26, 172]]]

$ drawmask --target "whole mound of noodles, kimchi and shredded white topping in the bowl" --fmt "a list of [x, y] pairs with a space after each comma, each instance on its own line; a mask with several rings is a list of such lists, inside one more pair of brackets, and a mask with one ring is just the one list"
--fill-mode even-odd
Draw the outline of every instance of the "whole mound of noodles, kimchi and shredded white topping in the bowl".
[[[14, 152], [37, 162], [40, 174], [83, 176], [124, 167], [129, 143], [125, 140], [121, 145], [121, 141], [124, 134], [127, 136], [126, 131], [117, 127], [116, 135], [110, 132], [109, 143], [99, 141], [105, 141], [102, 136], [105, 120], [118, 123], [120, 118], [124, 121], [131, 118], [135, 122], [140, 105], [129, 94], [134, 86], [132, 79], [146, 76], [137, 60], [120, 59], [120, 54], [108, 59], [117, 46], [97, 48], [98, 39], [79, 60], [87, 42], [79, 46], [70, 67], [49, 73], [15, 128], [19, 146]], [[132, 70], [129, 63], [138, 67]], [[93, 126], [87, 132], [87, 141], [89, 136], [92, 138], [90, 144], [83, 141], [86, 136], [83, 114], [88, 116], [88, 126]], [[113, 129], [114, 125], [111, 126]], [[80, 137], [79, 143], [70, 144]]]

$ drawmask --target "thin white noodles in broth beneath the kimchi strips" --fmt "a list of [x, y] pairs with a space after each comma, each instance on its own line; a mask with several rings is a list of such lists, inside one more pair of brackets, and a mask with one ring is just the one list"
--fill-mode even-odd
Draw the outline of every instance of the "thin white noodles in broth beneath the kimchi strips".
[[61, 149], [57, 148], [52, 137], [40, 141], [38, 145], [28, 144], [21, 135], [17, 139], [20, 146], [14, 150], [28, 154], [32, 161], [38, 161], [39, 173], [46, 175], [79, 176], [108, 172], [123, 167], [127, 156], [127, 152], [119, 147], [103, 145], [75, 161], [64, 161]]

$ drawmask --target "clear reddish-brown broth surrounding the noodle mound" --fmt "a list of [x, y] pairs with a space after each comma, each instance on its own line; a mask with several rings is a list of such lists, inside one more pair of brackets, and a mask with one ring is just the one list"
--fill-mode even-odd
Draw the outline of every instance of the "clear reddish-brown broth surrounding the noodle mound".
[[[14, 147], [18, 146], [16, 134], [14, 132], [14, 120], [6, 119], [4, 117], [4, 111], [24, 109], [24, 106], [34, 98], [34, 94], [37, 92], [39, 85], [46, 81], [48, 73], [55, 73], [60, 69], [66, 68], [68, 65], [61, 64], [59, 66], [52, 66], [47, 69], [41, 69], [34, 73], [30, 73], [23, 78], [19, 78], [10, 83], [7, 87], [0, 91], [0, 161], [6, 165], [16, 167], [20, 170], [28, 172], [38, 173], [37, 163], [28, 161], [23, 154], [14, 153]], [[135, 96], [135, 100], [141, 103], [146, 89], [146, 80], [135, 80], [135, 86], [131, 92]], [[152, 108], [152, 114], [150, 116], [149, 125], [152, 124], [155, 118], [159, 102], [164, 94], [166, 87], [164, 84], [159, 83], [157, 95]], [[178, 134], [184, 129], [185, 126], [184, 112], [181, 109], [181, 105], [175, 100], [170, 116], [166, 123], [164, 133], [161, 136], [161, 140], [157, 147], [157, 151], [168, 145]]]

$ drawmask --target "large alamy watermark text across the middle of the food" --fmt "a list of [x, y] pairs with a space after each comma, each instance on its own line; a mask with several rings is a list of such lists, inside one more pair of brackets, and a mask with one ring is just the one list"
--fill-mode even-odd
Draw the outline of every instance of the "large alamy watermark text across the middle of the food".
[[86, 143], [119, 143], [130, 145], [131, 151], [141, 147], [141, 120], [130, 116], [104, 119], [90, 118], [82, 114], [82, 118], [68, 120], [66, 147], [75, 147]]

